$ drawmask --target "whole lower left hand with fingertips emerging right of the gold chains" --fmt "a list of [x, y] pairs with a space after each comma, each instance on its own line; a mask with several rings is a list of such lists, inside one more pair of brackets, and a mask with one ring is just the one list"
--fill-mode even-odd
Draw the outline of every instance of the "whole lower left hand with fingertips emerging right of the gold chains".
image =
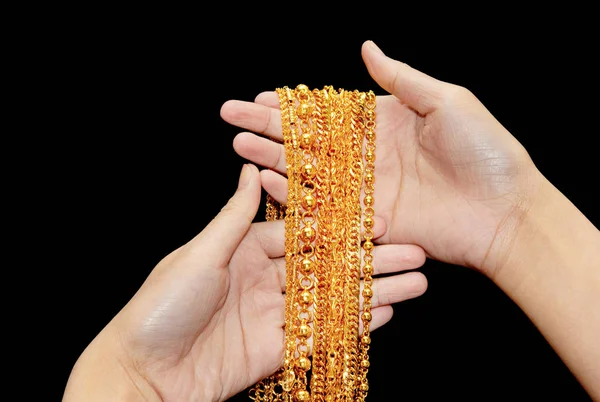
[[[246, 166], [221, 213], [164, 258], [88, 346], [65, 401], [225, 400], [280, 367], [284, 224], [251, 223], [260, 192], [258, 170]], [[419, 247], [388, 245], [375, 248], [373, 265], [393, 273], [424, 261]], [[421, 295], [427, 283], [410, 272], [373, 286], [377, 328], [390, 320], [391, 303]]]

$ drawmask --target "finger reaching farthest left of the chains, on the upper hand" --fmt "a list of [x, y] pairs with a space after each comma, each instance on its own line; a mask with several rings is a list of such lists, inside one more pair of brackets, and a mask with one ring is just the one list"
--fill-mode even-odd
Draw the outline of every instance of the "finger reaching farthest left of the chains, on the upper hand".
[[234, 126], [283, 140], [279, 107], [274, 109], [254, 102], [230, 100], [221, 107], [221, 118]]

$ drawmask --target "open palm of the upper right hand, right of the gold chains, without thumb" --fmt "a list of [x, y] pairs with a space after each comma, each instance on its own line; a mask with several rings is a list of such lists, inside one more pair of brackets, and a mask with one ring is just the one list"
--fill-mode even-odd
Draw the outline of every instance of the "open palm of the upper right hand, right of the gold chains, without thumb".
[[460, 96], [425, 116], [394, 96], [378, 98], [376, 210], [388, 224], [381, 241], [419, 244], [434, 258], [483, 267], [519, 208], [530, 161], [483, 105]]

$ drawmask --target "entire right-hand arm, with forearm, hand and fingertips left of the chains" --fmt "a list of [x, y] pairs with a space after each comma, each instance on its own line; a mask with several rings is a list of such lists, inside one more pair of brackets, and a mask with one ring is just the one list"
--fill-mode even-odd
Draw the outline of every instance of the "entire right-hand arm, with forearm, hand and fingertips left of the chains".
[[[600, 400], [598, 229], [470, 91], [393, 60], [370, 41], [362, 54], [391, 94], [378, 96], [376, 108], [375, 211], [385, 230], [377, 242], [416, 244], [489, 277]], [[234, 148], [269, 168], [263, 186], [284, 202], [283, 147], [263, 137], [282, 139], [276, 94], [229, 101], [221, 115], [251, 131]]]

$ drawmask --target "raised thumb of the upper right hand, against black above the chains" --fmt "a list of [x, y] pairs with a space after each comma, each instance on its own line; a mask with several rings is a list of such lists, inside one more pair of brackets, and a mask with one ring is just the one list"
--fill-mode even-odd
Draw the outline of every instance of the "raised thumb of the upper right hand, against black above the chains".
[[363, 44], [362, 56], [371, 77], [401, 102], [423, 115], [439, 105], [444, 82], [387, 57], [372, 41]]

